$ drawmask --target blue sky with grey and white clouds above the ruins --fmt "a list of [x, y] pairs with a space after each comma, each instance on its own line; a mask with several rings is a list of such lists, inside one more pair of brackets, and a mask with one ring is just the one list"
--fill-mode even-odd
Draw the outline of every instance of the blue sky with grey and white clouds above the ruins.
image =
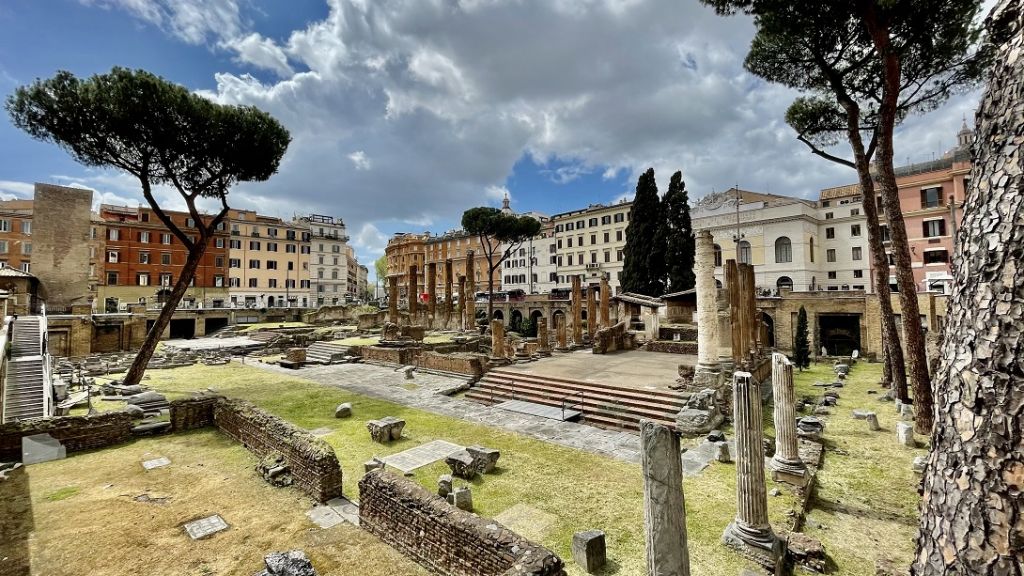
[[[369, 264], [394, 232], [456, 228], [505, 194], [545, 213], [611, 202], [648, 166], [663, 188], [682, 170], [691, 197], [852, 182], [795, 140], [782, 119], [795, 94], [743, 71], [752, 36], [696, 0], [4, 0], [0, 93], [122, 66], [258, 106], [293, 141], [231, 204], [341, 216]], [[900, 163], [951, 148], [977, 99], [908, 121]], [[4, 117], [0, 195], [29, 197], [34, 181], [141, 200], [132, 178]]]

